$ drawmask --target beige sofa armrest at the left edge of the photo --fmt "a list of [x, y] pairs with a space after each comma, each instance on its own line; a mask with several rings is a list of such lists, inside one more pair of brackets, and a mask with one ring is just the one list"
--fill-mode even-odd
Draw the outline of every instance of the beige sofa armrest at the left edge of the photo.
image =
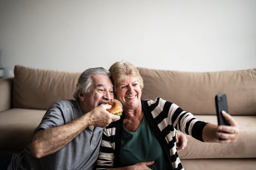
[[14, 78], [0, 79], [0, 112], [12, 108]]

